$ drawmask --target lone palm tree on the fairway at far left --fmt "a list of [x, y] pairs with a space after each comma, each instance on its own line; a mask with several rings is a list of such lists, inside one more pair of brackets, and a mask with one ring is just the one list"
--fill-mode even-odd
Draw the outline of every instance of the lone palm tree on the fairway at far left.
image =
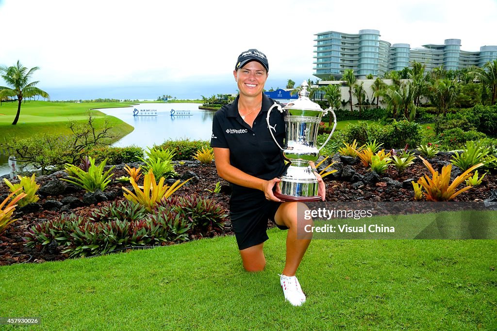
[[39, 81], [30, 81], [33, 72], [38, 69], [39, 67], [35, 66], [28, 70], [20, 61], [17, 61], [15, 66], [0, 66], [0, 76], [5, 80], [7, 85], [10, 86], [0, 86], [0, 99], [6, 96], [17, 97], [17, 114], [15, 114], [12, 125], [16, 125], [19, 120], [21, 103], [24, 97], [41, 95], [44, 98], [50, 98], [47, 92], [36, 87]]

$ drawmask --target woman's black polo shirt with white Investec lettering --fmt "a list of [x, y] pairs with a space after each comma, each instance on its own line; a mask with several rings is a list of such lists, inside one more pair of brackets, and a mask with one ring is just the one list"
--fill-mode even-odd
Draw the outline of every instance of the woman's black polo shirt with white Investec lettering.
[[[271, 137], [266, 123], [267, 111], [275, 101], [262, 94], [261, 111], [250, 128], [238, 113], [238, 100], [239, 97], [214, 114], [211, 147], [229, 148], [231, 165], [249, 175], [264, 180], [278, 177], [285, 168], [283, 152]], [[284, 112], [280, 113], [275, 107], [269, 118], [271, 130], [281, 147], [284, 147], [285, 138], [283, 116]], [[234, 184], [232, 187], [237, 191], [247, 189]]]

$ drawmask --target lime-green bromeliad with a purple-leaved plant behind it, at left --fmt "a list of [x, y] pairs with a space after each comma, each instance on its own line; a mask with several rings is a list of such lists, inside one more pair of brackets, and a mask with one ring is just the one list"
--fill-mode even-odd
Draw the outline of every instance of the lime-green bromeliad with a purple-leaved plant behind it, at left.
[[66, 170], [73, 175], [69, 176], [70, 179], [63, 178], [62, 180], [77, 185], [86, 190], [86, 192], [95, 192], [96, 190], [104, 191], [110, 183], [110, 178], [114, 175], [110, 173], [114, 169], [114, 166], [106, 172], [103, 172], [107, 159], [103, 160], [98, 166], [95, 166], [95, 159], [92, 157], [89, 157], [88, 159], [90, 162], [88, 171], [84, 171], [73, 164], [66, 163]]

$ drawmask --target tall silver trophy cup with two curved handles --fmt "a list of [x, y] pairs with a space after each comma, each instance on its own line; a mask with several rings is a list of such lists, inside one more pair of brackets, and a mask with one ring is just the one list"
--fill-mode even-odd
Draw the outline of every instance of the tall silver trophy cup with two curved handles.
[[[309, 85], [304, 81], [301, 85], [299, 98], [281, 108], [276, 102], [267, 111], [266, 122], [269, 132], [279, 148], [283, 150], [283, 156], [290, 161], [286, 171], [279, 177], [277, 189], [274, 195], [283, 201], [319, 201], [319, 183], [316, 174], [312, 171], [309, 162], [316, 162], [319, 151], [331, 138], [336, 128], [336, 116], [331, 108], [322, 110], [321, 107], [309, 99]], [[271, 110], [277, 108], [280, 113], [285, 112], [286, 139], [285, 148], [281, 147], [274, 138], [269, 124]], [[321, 118], [331, 112], [333, 115], [333, 130], [323, 146], [316, 147], [319, 124]]]

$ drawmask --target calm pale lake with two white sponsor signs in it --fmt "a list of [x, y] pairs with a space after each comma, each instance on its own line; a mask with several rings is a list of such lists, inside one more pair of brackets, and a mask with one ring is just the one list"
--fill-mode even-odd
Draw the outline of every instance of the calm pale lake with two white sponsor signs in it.
[[[215, 112], [199, 110], [199, 105], [198, 103], [143, 103], [130, 107], [98, 110], [117, 117], [135, 128], [113, 146], [136, 145], [146, 148], [161, 144], [167, 139], [210, 140]], [[141, 114], [157, 114], [157, 116]], [[0, 155], [0, 175], [8, 173], [8, 156]]]

